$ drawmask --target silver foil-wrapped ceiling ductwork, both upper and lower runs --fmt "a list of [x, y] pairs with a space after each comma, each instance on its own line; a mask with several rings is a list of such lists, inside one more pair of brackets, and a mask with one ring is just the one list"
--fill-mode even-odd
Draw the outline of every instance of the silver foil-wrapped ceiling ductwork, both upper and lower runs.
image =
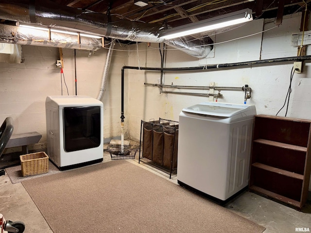
[[[145, 24], [117, 17], [108, 17], [104, 14], [78, 10], [72, 7], [58, 6], [54, 2], [45, 0], [1, 0], [0, 18], [25, 24], [33, 24], [42, 27], [58, 28], [100, 35], [103, 37], [129, 40], [135, 42], [165, 43], [175, 49], [183, 50], [191, 56], [203, 58], [212, 49], [211, 46], [203, 46], [204, 41], [188, 41], [183, 38], [164, 40], [158, 37], [160, 24]], [[1, 26], [1, 25], [0, 25]], [[0, 27], [0, 42], [43, 45], [52, 47], [97, 50], [102, 41], [92, 38], [84, 38], [84, 41], [72, 42], [51, 41], [51, 35], [42, 34], [42, 38], [36, 38], [30, 31], [20, 33], [18, 27]], [[6, 28], [6, 29], [4, 29]], [[35, 37], [35, 39], [34, 39]], [[68, 36], [65, 38], [69, 38]], [[33, 42], [35, 40], [35, 42]], [[40, 42], [41, 40], [41, 42]], [[62, 45], [62, 46], [61, 46]]]

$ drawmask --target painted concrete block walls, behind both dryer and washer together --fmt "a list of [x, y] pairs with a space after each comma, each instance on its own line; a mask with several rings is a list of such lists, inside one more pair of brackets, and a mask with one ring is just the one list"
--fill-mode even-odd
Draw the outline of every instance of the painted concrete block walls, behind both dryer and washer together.
[[[222, 64], [259, 59], [281, 58], [297, 55], [297, 47], [291, 46], [292, 33], [299, 32], [301, 14], [283, 19], [275, 27], [273, 20], [257, 20], [238, 31], [216, 35], [216, 44], [210, 58], [197, 59], [180, 50], [167, 48], [166, 67], [197, 67], [204, 64]], [[269, 30], [271, 29], [271, 30]], [[268, 30], [268, 31], [265, 31]], [[258, 33], [265, 31], [263, 33]], [[253, 33], [241, 40], [237, 37]], [[257, 34], [256, 34], [257, 33]], [[227, 43], [222, 43], [232, 40]], [[14, 119], [14, 133], [37, 131], [42, 139], [30, 149], [46, 148], [45, 99], [48, 95], [61, 95], [60, 70], [57, 48], [22, 46], [25, 62], [0, 63], [0, 122], [5, 117]], [[137, 51], [138, 50], [138, 51]], [[95, 52], [76, 50], [77, 93], [97, 98], [106, 59], [106, 49]], [[307, 55], [310, 51], [307, 50]], [[75, 94], [74, 50], [63, 49], [64, 74], [69, 95]], [[129, 46], [116, 44], [112, 55], [104, 102], [104, 138], [121, 134], [121, 67], [160, 67], [158, 44], [138, 43]], [[243, 86], [252, 88], [248, 104], [255, 104], [258, 114], [276, 115], [282, 107], [289, 87], [292, 63], [271, 66], [241, 67], [238, 69], [212, 70], [208, 72], [178, 72], [164, 75], [165, 84]], [[311, 75], [304, 67], [302, 74], [294, 74], [292, 94], [287, 116], [311, 119]], [[159, 94], [157, 87], [144, 83], [159, 83], [157, 71], [125, 71], [125, 137], [139, 140], [140, 121], [166, 118], [178, 121], [180, 111], [187, 106], [210, 98]], [[220, 102], [243, 103], [242, 91], [222, 91]], [[63, 94], [67, 95], [63, 83]], [[283, 109], [279, 116], [284, 116]], [[311, 188], [310, 188], [311, 190]]]

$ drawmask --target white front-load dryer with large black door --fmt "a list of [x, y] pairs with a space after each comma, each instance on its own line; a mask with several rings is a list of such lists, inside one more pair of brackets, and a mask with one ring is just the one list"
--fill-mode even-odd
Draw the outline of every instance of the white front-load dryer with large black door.
[[47, 153], [66, 170], [103, 161], [103, 102], [88, 96], [46, 98]]

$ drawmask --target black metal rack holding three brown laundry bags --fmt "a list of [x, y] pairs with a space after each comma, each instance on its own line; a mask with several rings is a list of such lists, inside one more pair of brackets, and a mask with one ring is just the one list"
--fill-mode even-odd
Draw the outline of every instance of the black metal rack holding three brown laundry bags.
[[162, 118], [149, 122], [141, 120], [139, 146], [138, 163], [155, 167], [171, 179], [177, 172], [178, 121]]

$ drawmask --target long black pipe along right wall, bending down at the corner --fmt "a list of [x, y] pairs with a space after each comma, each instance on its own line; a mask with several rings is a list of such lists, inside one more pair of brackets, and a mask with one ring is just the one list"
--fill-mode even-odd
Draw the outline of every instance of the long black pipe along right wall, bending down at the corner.
[[238, 63], [224, 63], [224, 64], [214, 64], [206, 65], [205, 67], [173, 67], [173, 68], [157, 68], [157, 67], [128, 67], [123, 66], [121, 69], [121, 122], [124, 122], [124, 69], [140, 69], [140, 70], [155, 70], [155, 71], [209, 71], [209, 69], [219, 69], [226, 67], [243, 67], [243, 66], [253, 66], [253, 65], [272, 65], [272, 63], [280, 62], [293, 62], [293, 61], [306, 61], [311, 60], [311, 55], [308, 56], [295, 56], [286, 58], [275, 58], [266, 60], [257, 60], [250, 62], [238, 62]]

